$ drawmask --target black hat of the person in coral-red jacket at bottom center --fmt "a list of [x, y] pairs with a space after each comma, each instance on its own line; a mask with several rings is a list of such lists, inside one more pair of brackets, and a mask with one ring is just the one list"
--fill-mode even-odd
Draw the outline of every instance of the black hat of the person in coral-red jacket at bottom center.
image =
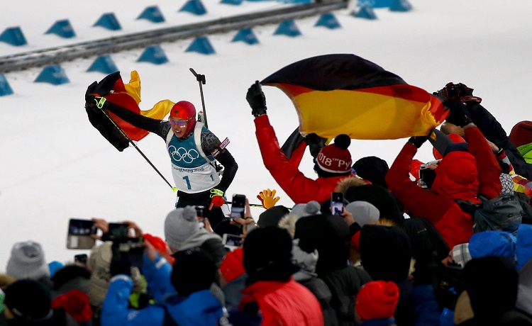
[[292, 237], [279, 227], [257, 227], [245, 237], [244, 268], [248, 283], [288, 281], [299, 267], [292, 263]]

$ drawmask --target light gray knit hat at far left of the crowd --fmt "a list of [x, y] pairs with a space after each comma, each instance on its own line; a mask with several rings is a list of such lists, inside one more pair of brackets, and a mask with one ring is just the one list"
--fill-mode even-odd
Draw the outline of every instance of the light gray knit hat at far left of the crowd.
[[6, 274], [15, 279], [38, 280], [50, 277], [50, 268], [46, 262], [43, 247], [31, 240], [16, 242], [11, 249]]

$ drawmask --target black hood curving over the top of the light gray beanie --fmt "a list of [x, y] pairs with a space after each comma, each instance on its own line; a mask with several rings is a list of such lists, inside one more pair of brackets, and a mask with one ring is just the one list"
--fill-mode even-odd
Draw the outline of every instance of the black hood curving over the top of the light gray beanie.
[[397, 225], [402, 225], [404, 221], [403, 214], [399, 210], [399, 202], [392, 193], [383, 186], [378, 184], [367, 184], [365, 186], [350, 186], [345, 195], [345, 200], [350, 203], [353, 201], [367, 201], [377, 207], [380, 212], [380, 218], [392, 220]]

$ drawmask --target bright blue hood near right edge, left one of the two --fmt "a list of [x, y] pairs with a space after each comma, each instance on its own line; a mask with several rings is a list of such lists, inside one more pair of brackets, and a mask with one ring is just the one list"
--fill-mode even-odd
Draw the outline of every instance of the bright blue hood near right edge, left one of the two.
[[516, 258], [517, 238], [509, 232], [484, 231], [472, 235], [469, 240], [469, 252], [473, 259], [489, 256]]

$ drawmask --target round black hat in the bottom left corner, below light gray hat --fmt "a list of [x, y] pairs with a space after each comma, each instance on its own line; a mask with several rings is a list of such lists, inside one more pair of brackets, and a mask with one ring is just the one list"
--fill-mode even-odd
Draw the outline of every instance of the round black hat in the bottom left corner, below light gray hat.
[[18, 318], [38, 320], [52, 313], [50, 291], [38, 281], [21, 279], [4, 292], [4, 304]]

